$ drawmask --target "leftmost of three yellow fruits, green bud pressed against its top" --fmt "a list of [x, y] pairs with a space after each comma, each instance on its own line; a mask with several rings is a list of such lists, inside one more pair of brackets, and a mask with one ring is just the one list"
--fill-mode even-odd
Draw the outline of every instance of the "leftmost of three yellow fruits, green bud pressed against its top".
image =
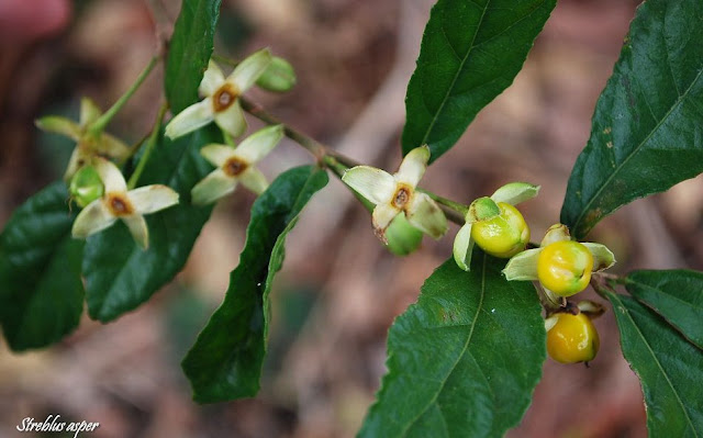
[[501, 213], [471, 226], [476, 245], [493, 257], [510, 258], [525, 249], [529, 242], [529, 227], [513, 205], [499, 202]]

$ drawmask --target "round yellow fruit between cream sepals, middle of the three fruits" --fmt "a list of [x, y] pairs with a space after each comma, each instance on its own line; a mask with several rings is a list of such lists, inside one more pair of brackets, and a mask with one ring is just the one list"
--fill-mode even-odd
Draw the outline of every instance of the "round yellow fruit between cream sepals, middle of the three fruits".
[[559, 296], [581, 292], [591, 281], [593, 256], [578, 242], [562, 240], [547, 245], [537, 259], [539, 282]]

